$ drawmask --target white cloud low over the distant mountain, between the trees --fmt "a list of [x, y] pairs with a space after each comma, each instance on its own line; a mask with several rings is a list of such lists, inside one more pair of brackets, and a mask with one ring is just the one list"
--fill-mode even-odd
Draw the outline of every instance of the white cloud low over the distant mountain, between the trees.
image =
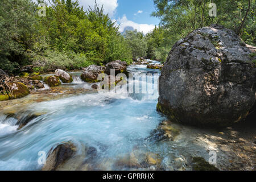
[[120, 24], [119, 31], [123, 32], [125, 27], [133, 27], [139, 32], [143, 32], [144, 34], [147, 34], [148, 32], [152, 31], [155, 28], [154, 24], [138, 24], [131, 20], [128, 20], [126, 15], [123, 15], [123, 17], [117, 20], [117, 23]]

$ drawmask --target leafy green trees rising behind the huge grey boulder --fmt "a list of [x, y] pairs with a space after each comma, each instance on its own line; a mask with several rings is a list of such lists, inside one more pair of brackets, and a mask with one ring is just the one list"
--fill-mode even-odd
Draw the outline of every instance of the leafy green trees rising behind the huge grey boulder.
[[[209, 3], [216, 3], [217, 16], [209, 16]], [[255, 46], [255, 0], [154, 0], [160, 27], [148, 34], [148, 57], [165, 61], [171, 47], [197, 28], [222, 24]]]

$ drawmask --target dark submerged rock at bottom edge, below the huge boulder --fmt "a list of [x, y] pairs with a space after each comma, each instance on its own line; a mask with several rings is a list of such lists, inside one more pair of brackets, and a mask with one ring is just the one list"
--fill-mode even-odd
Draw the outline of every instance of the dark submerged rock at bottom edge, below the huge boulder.
[[195, 157], [192, 159], [193, 171], [219, 171], [214, 165], [209, 164], [204, 158]]

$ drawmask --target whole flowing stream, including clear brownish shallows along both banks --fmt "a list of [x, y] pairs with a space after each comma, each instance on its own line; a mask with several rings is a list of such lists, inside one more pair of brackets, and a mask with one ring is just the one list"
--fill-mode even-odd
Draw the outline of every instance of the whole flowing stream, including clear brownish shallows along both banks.
[[[160, 71], [147, 69], [146, 65], [130, 65], [128, 71], [135, 77], [128, 85], [139, 85], [139, 88], [157, 85], [152, 80], [158, 80], [160, 75]], [[143, 80], [148, 73], [153, 75]], [[176, 124], [180, 135], [174, 141], [158, 141], [152, 137], [159, 123], [166, 119], [156, 111], [158, 86], [152, 87], [154, 93], [150, 94], [127, 93], [125, 88], [118, 88], [115, 93], [98, 93], [91, 90], [92, 84], [80, 80], [81, 73], [71, 74], [74, 82], [60, 86], [64, 92], [48, 94], [49, 88], [46, 88], [46, 95], [30, 94], [1, 103], [0, 170], [40, 170], [38, 152], [48, 153], [52, 147], [68, 141], [77, 146], [80, 162], [86, 158], [85, 146], [96, 149], [93, 160], [88, 160], [92, 164], [89, 169], [134, 169], [117, 163], [135, 151], [158, 155], [159, 169], [191, 169], [192, 155], [207, 159], [207, 150], [218, 151], [216, 144], [205, 138], [201, 130]], [[73, 91], [67, 94], [69, 90]], [[6, 113], [18, 114], [18, 117]], [[20, 118], [35, 113], [39, 116], [17, 130]], [[218, 152], [225, 157], [223, 152]], [[146, 169], [155, 168], [153, 165]], [[88, 168], [81, 163], [80, 167], [71, 169]]]

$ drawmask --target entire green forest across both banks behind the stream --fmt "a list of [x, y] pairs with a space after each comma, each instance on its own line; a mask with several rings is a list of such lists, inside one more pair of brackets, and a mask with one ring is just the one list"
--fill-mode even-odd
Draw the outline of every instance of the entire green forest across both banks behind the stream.
[[[152, 16], [160, 19], [148, 34], [119, 32], [104, 7], [81, 7], [72, 0], [2, 0], [0, 2], [0, 68], [17, 72], [33, 65], [35, 72], [79, 69], [113, 60], [131, 64], [138, 57], [164, 62], [177, 40], [217, 23], [255, 46], [255, 0], [212, 1], [217, 16], [209, 16], [208, 0], [154, 0]], [[38, 13], [46, 3], [46, 16]]]

